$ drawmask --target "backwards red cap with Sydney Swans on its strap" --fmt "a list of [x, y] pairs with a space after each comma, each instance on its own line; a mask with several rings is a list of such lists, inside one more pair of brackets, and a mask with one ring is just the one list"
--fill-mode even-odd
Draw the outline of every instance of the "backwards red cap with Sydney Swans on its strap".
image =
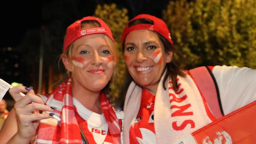
[[[81, 30], [81, 23], [85, 20], [96, 20], [100, 23], [101, 26]], [[66, 35], [64, 37], [63, 52], [76, 39], [79, 39], [80, 37], [83, 37], [85, 35], [93, 35], [100, 33], [108, 35], [108, 37], [114, 42], [110, 28], [102, 19], [96, 17], [83, 17], [81, 20], [76, 20], [76, 22], [74, 22], [67, 28]]]

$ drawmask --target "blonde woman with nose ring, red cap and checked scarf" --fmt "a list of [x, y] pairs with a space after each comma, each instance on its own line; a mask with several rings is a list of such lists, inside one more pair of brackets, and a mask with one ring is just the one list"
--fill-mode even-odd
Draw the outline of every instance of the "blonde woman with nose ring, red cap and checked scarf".
[[[117, 52], [108, 25], [95, 17], [71, 24], [61, 60], [70, 76], [50, 95], [36, 96], [24, 86], [9, 90], [17, 102], [0, 132], [0, 142], [121, 144], [121, 114], [109, 103]], [[21, 97], [19, 92], [27, 94]]]

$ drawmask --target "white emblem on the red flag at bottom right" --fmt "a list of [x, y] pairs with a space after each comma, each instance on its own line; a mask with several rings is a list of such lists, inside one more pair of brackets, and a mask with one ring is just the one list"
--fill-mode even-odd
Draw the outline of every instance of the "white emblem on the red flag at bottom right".
[[215, 138], [213, 142], [211, 141], [209, 136], [204, 138], [203, 144], [232, 144], [232, 139], [226, 131], [218, 131], [216, 135], [218, 137]]

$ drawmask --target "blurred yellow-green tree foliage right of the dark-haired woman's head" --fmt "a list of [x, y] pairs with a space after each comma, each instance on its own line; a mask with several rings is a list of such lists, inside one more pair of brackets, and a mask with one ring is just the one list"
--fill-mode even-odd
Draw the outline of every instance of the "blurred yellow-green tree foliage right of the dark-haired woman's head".
[[163, 11], [174, 46], [187, 68], [236, 65], [256, 68], [255, 0], [171, 1]]

